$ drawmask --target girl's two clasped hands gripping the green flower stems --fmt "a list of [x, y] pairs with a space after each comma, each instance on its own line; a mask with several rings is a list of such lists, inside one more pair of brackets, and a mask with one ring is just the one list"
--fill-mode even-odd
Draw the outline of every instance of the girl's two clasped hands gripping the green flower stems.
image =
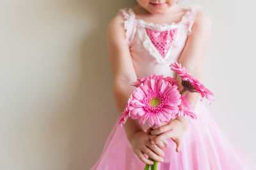
[[153, 126], [147, 132], [138, 131], [129, 138], [129, 141], [133, 152], [145, 164], [154, 164], [154, 162], [148, 160], [144, 153], [158, 162], [163, 162], [164, 149], [167, 147], [163, 140], [171, 138], [177, 145], [176, 151], [179, 152], [182, 136], [187, 128], [188, 121], [186, 119], [175, 118], [161, 127]]

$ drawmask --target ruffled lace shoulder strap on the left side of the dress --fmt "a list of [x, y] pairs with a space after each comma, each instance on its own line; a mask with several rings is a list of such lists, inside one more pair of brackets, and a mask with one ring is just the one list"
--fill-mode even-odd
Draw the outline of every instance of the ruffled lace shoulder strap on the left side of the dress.
[[132, 30], [134, 29], [134, 18], [135, 14], [132, 11], [131, 8], [122, 8], [119, 10], [119, 13], [121, 13], [124, 16], [124, 29], [125, 29], [125, 36], [126, 41], [128, 45], [131, 45], [131, 38], [132, 38]]

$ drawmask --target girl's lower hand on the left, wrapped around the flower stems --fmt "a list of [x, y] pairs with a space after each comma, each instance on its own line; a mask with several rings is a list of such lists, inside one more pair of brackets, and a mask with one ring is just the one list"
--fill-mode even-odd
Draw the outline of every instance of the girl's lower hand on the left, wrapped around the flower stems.
[[152, 139], [155, 136], [151, 136], [150, 131], [151, 129], [148, 129], [147, 132], [139, 131], [132, 136], [130, 140], [132, 150], [145, 164], [154, 164], [154, 162], [152, 160], [148, 160], [144, 153], [158, 162], [163, 162], [163, 150], [166, 148], [166, 143], [164, 144], [163, 142], [160, 142], [157, 144], [151, 144], [150, 138]]

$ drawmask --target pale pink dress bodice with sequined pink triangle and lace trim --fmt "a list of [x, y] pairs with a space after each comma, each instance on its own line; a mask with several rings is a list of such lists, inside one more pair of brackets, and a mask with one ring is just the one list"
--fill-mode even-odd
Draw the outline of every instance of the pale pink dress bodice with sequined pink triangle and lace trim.
[[170, 64], [179, 60], [196, 12], [201, 9], [200, 4], [191, 4], [180, 22], [162, 25], [137, 19], [132, 8], [120, 9], [125, 18], [126, 41], [138, 78], [152, 73], [174, 76]]

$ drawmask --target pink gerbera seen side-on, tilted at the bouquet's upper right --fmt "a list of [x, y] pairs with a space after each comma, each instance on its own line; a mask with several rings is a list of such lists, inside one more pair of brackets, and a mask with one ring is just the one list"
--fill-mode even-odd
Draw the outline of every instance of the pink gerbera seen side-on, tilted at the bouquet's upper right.
[[[214, 101], [213, 93], [207, 89], [200, 81], [196, 80], [191, 74], [189, 74], [186, 69], [181, 67], [178, 62], [170, 64], [172, 71], [175, 71], [182, 78], [182, 86], [184, 90], [189, 92], [198, 92], [202, 97]], [[202, 99], [201, 99], [202, 100]]]

